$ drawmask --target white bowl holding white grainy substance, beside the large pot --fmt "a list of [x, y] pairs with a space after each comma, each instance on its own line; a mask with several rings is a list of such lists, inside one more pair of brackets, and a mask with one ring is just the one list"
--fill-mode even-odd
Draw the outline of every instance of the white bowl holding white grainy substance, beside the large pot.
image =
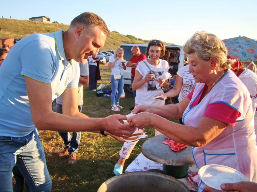
[[206, 165], [199, 169], [199, 177], [209, 187], [221, 190], [223, 183], [248, 181], [241, 172], [223, 165]]

